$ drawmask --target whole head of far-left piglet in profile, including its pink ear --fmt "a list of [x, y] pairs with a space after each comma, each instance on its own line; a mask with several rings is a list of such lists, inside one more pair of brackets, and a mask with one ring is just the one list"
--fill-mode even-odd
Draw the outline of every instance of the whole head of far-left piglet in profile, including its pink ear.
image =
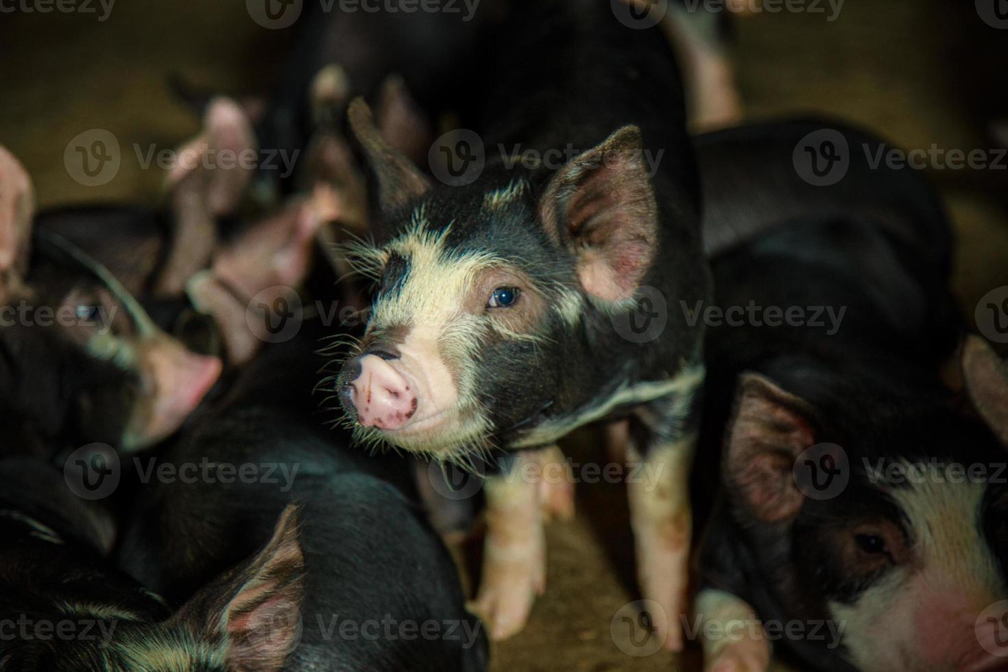
[[160, 331], [65, 240], [40, 235], [32, 246], [31, 193], [24, 168], [0, 149], [0, 413], [10, 445], [51, 453], [165, 438], [216, 382], [220, 361]]

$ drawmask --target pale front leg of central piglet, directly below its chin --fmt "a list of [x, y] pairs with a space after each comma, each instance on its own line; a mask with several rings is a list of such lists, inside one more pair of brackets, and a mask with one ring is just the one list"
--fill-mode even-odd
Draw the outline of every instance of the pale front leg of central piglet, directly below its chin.
[[494, 640], [520, 632], [535, 597], [546, 584], [546, 548], [543, 534], [537, 455], [517, 453], [501, 475], [488, 477], [487, 538], [483, 578], [470, 609], [487, 625]]

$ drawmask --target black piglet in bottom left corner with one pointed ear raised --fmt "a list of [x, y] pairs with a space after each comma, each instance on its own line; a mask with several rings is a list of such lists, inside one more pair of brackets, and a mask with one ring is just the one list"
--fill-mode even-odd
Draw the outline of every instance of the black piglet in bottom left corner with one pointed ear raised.
[[296, 507], [260, 548], [176, 610], [108, 558], [111, 522], [30, 458], [0, 459], [0, 668], [273, 672], [297, 646], [305, 588]]

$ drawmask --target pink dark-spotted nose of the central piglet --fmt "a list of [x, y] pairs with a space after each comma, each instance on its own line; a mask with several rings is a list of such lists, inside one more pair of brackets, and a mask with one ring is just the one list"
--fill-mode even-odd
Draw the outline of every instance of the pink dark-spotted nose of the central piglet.
[[357, 421], [379, 429], [406, 424], [416, 412], [416, 394], [406, 379], [378, 355], [365, 355], [359, 364], [360, 374], [344, 389], [357, 411]]

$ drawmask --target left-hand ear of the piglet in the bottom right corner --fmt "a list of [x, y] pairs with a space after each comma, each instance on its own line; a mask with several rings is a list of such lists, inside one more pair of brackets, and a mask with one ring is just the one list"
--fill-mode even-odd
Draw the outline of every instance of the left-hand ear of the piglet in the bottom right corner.
[[762, 376], [739, 383], [729, 423], [725, 476], [730, 491], [758, 520], [793, 518], [803, 497], [794, 482], [794, 460], [815, 442], [804, 401]]

